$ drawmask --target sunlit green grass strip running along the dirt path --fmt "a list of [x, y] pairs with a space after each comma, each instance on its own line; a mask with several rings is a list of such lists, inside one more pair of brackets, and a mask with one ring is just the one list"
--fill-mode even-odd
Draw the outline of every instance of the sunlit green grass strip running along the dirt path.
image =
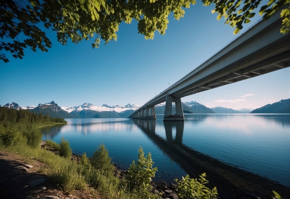
[[[126, 180], [119, 180], [114, 176], [105, 176], [99, 170], [93, 167], [85, 169], [81, 165], [76, 164], [69, 158], [63, 158], [51, 151], [45, 149], [32, 149], [23, 144], [10, 147], [0, 146], [0, 150], [11, 153], [18, 153], [27, 158], [39, 160], [46, 165], [47, 169], [41, 168], [39, 171], [44, 172], [50, 177], [51, 182], [57, 187], [72, 193], [75, 189], [87, 189], [92, 187], [97, 190], [104, 198], [110, 199], [141, 199], [144, 198], [142, 191], [130, 191]], [[151, 199], [160, 198], [156, 194], [146, 193]]]

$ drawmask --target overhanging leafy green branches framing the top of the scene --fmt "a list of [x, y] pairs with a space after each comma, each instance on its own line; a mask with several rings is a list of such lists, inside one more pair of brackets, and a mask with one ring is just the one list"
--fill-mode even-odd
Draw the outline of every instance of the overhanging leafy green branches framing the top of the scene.
[[[235, 28], [234, 34], [242, 29], [243, 23], [249, 23], [255, 15], [261, 0], [202, 0], [205, 6], [215, 4], [212, 11], [218, 13], [218, 19], [225, 17], [226, 22]], [[124, 21], [138, 21], [138, 31], [145, 39], [153, 39], [157, 30], [164, 35], [168, 24], [168, 15], [173, 12], [179, 20], [184, 9], [194, 5], [195, 0], [0, 0], [0, 51], [6, 50], [15, 58], [22, 59], [23, 49], [48, 51], [51, 41], [42, 30], [42, 26], [54, 30], [57, 40], [66, 45], [70, 38], [73, 43], [94, 38], [93, 48], [99, 48], [101, 39], [107, 44], [117, 40], [119, 24]], [[259, 14], [264, 19], [279, 10], [289, 0], [269, 0], [262, 6]], [[243, 5], [239, 9], [240, 5]], [[289, 32], [289, 7], [281, 12], [283, 18], [281, 32]], [[19, 38], [18, 38], [19, 36]], [[0, 59], [8, 62], [6, 54], [0, 52]]]

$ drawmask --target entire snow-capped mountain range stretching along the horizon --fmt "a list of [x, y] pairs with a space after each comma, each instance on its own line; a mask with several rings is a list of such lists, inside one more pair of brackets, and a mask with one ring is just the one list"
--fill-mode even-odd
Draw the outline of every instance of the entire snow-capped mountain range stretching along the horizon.
[[[46, 104], [38, 104], [38, 106], [27, 106], [25, 108], [20, 107], [17, 103], [4, 105], [7, 108], [14, 108], [17, 110], [28, 109], [30, 112], [49, 114], [50, 117], [61, 118], [120, 118], [129, 117], [140, 106], [135, 104], [127, 104], [126, 106], [108, 106], [103, 104], [102, 106], [95, 106], [90, 103], [84, 103], [79, 106], [60, 107], [54, 101]], [[233, 110], [225, 107], [208, 108], [198, 102], [182, 102], [182, 108], [184, 113], [290, 113], [290, 99], [281, 100], [273, 104], [267, 104], [261, 108], [253, 109], [240, 109]], [[155, 106], [156, 114], [164, 114], [165, 102]]]

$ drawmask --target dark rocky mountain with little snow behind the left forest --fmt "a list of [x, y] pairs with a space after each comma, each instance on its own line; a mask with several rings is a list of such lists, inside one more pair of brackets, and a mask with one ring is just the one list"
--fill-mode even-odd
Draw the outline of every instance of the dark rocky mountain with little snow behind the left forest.
[[38, 104], [36, 108], [28, 109], [30, 112], [42, 113], [43, 115], [49, 114], [50, 117], [60, 118], [80, 118], [78, 115], [71, 115], [68, 112], [62, 110], [54, 101], [46, 104]]

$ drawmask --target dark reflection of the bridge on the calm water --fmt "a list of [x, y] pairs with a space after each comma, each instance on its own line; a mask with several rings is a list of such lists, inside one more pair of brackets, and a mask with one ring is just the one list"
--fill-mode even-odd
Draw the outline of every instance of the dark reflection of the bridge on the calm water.
[[[133, 122], [192, 178], [206, 173], [209, 187], [217, 187], [221, 198], [271, 198], [272, 190], [288, 197], [289, 188], [267, 178], [239, 169], [202, 154], [182, 143], [184, 121], [163, 121], [166, 138], [155, 132], [156, 120], [132, 119]], [[158, 123], [158, 125], [160, 125]], [[175, 137], [173, 129], [176, 129]], [[193, 132], [194, 133], [194, 132]], [[213, 140], [214, 142], [214, 140]], [[153, 160], [154, 161], [154, 160]]]

